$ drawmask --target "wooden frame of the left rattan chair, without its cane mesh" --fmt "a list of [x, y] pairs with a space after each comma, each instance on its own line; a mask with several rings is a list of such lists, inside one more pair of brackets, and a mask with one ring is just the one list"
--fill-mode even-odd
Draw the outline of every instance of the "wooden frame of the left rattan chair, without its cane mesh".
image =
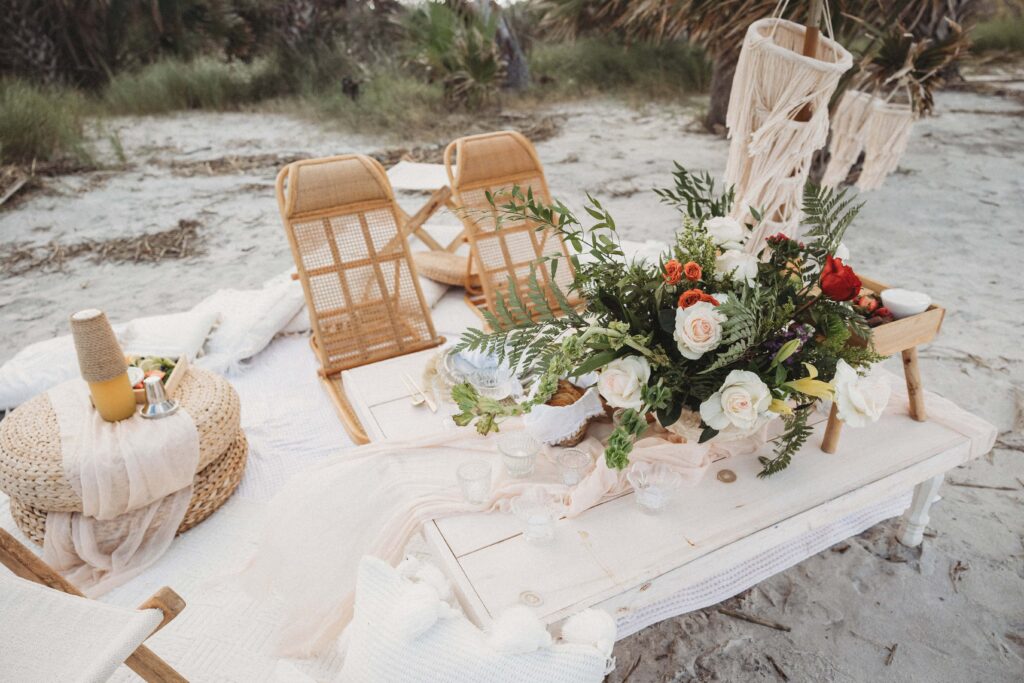
[[[353, 176], [352, 180], [364, 183], [376, 183], [375, 196], [370, 199], [360, 199], [349, 203], [339, 203], [328, 207], [317, 208], [310, 211], [300, 211], [296, 209], [298, 196], [302, 191], [296, 189], [296, 183], [301, 170], [307, 166], [341, 163], [345, 164], [347, 170], [339, 167], [339, 173], [351, 173], [358, 168], [358, 177]], [[356, 443], [368, 443], [366, 429], [360, 424], [358, 417], [352, 410], [348, 397], [345, 395], [340, 374], [350, 368], [370, 365], [380, 360], [386, 360], [398, 355], [421, 351], [426, 348], [437, 346], [444, 342], [443, 337], [439, 337], [434, 329], [433, 319], [430, 315], [430, 307], [427, 305], [420, 288], [416, 264], [411, 258], [407, 236], [415, 229], [410, 226], [409, 216], [401, 211], [394, 200], [394, 191], [388, 181], [384, 168], [375, 160], [364, 155], [341, 155], [328, 157], [325, 159], [312, 159], [293, 162], [281, 170], [276, 180], [278, 207], [281, 210], [281, 217], [285, 224], [285, 231], [292, 249], [292, 256], [298, 270], [297, 278], [302, 283], [302, 290], [306, 299], [306, 306], [309, 311], [309, 322], [312, 328], [310, 343], [316, 353], [321, 368], [317, 371], [324, 382], [325, 388], [331, 399], [335, 403], [338, 415], [341, 418], [345, 430]], [[444, 202], [446, 197], [441, 197], [440, 202]], [[439, 206], [439, 205], [437, 205]], [[430, 213], [436, 210], [437, 206], [430, 207], [430, 203], [421, 209], [417, 216], [419, 225], [426, 220]], [[385, 212], [390, 214], [394, 221], [395, 234], [388, 240], [383, 248], [375, 246], [371, 234], [371, 227], [368, 222], [368, 214], [371, 212]], [[341, 253], [337, 244], [337, 236], [332, 223], [334, 218], [353, 218], [358, 221], [361, 229], [364, 244], [367, 249], [367, 256], [360, 259], [348, 259]], [[322, 227], [326, 240], [326, 247], [330, 250], [331, 263], [322, 267], [307, 268], [302, 245], [296, 234], [296, 224], [306, 224], [310, 221], [322, 221]], [[429, 236], [428, 236], [429, 237]], [[436, 244], [436, 243], [435, 243]], [[383, 263], [393, 263], [393, 286], [388, 288]], [[347, 273], [354, 268], [368, 267], [373, 271], [373, 278], [368, 278], [366, 288], [369, 290], [376, 287], [379, 297], [367, 298], [359, 301], [361, 296], [353, 299], [349, 290]], [[410, 283], [401, 284], [401, 269], [408, 272]], [[331, 310], [321, 310], [316, 306], [313, 296], [313, 286], [310, 278], [337, 274], [340, 289], [344, 292], [344, 304]], [[407, 315], [399, 314], [398, 292], [399, 287], [412, 287], [415, 291], [415, 300], [422, 314], [422, 323], [427, 332], [426, 336], [421, 336], [413, 330], [412, 326], [419, 326], [420, 321], [410, 323]], [[362, 319], [364, 311], [379, 310], [383, 306], [386, 316], [378, 318], [383, 321], [376, 327], [368, 327]], [[347, 327], [340, 333], [326, 329], [326, 318], [336, 321], [348, 321]], [[338, 328], [342, 323], [334, 323], [330, 327]], [[374, 350], [374, 347], [377, 350]], [[344, 349], [351, 357], [343, 360], [332, 359], [332, 350]], [[353, 351], [353, 349], [359, 349]]]

